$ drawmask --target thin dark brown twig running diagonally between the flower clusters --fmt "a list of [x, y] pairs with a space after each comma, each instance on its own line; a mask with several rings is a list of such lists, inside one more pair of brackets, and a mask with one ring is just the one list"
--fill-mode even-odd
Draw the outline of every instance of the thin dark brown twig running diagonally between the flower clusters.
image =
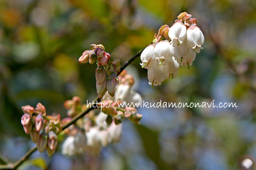
[[[143, 49], [144, 50], [144, 49]], [[132, 63], [137, 57], [140, 56], [140, 54], [142, 53], [143, 50], [140, 50], [139, 52], [137, 52], [135, 55], [133, 55], [128, 61], [126, 61], [124, 63], [124, 65], [120, 68], [120, 71], [118, 72], [117, 75], [119, 75], [130, 63]], [[87, 108], [85, 111], [82, 111], [81, 113], [79, 113], [78, 115], [76, 115], [76, 117], [74, 117], [69, 123], [65, 124], [62, 127], [62, 131], [66, 128], [68, 128], [70, 125], [74, 124], [78, 119], [82, 118], [84, 115], [86, 115], [87, 113], [89, 113], [91, 110], [97, 108], [97, 102], [100, 101], [99, 97], [96, 97], [94, 100], [94, 103], [92, 104], [92, 107]], [[61, 131], [61, 132], [62, 132]], [[23, 155], [17, 162], [15, 162], [14, 164], [7, 164], [7, 165], [0, 165], [0, 169], [17, 169], [18, 166], [20, 166], [26, 159], [28, 159], [30, 157], [30, 155], [32, 153], [34, 153], [37, 150], [37, 147], [33, 147], [31, 148], [25, 155]]]

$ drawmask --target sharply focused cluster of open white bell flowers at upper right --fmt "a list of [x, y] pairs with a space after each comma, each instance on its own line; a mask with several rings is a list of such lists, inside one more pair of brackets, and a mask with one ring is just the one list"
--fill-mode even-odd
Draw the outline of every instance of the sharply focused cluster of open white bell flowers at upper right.
[[140, 55], [142, 68], [148, 69], [149, 84], [161, 85], [170, 77], [176, 78], [180, 65], [189, 66], [196, 58], [196, 52], [203, 49], [204, 36], [197, 27], [196, 18], [182, 12], [169, 27], [162, 26], [155, 34], [153, 44], [146, 47]]

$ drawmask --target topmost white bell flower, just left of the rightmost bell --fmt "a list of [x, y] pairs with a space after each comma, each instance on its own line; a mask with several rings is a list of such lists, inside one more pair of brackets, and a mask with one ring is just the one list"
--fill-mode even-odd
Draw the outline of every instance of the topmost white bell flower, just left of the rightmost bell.
[[180, 45], [185, 41], [187, 27], [181, 22], [175, 22], [169, 29], [168, 35], [173, 46]]

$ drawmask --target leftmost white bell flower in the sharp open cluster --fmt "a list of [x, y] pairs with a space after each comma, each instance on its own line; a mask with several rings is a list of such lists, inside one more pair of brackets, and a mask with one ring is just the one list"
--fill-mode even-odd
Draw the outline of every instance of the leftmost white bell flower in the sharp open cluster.
[[154, 49], [155, 49], [155, 45], [150, 44], [142, 51], [140, 55], [140, 60], [142, 61], [140, 65], [142, 66], [142, 68], [146, 68], [150, 70], [150, 68], [153, 68], [156, 66], [157, 63], [155, 60]]

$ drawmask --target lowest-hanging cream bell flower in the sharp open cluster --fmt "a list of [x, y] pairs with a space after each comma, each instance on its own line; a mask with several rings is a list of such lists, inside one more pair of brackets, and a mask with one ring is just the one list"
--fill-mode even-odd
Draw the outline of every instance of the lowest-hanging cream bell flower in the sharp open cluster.
[[164, 70], [161, 65], [156, 65], [156, 67], [148, 70], [149, 84], [154, 86], [161, 85], [162, 81], [165, 80]]

